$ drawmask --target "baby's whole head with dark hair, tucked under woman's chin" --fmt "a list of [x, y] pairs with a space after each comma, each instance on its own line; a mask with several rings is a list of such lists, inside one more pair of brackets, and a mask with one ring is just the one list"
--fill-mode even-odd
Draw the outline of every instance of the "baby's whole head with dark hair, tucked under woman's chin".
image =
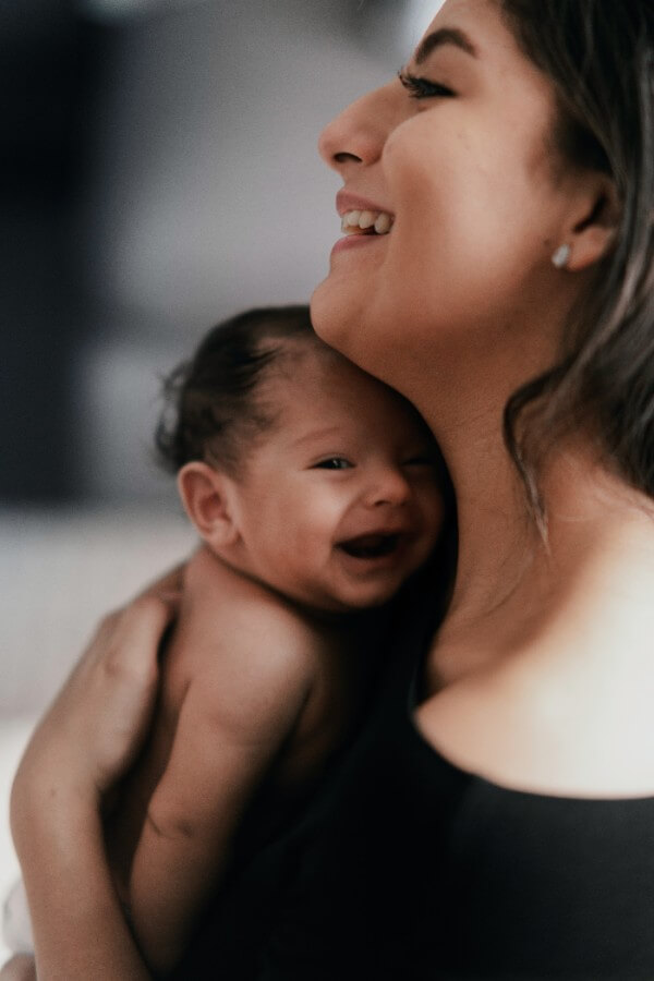
[[313, 332], [308, 307], [215, 327], [167, 384], [157, 446], [189, 517], [243, 574], [324, 611], [386, 603], [443, 523], [444, 469], [413, 407]]

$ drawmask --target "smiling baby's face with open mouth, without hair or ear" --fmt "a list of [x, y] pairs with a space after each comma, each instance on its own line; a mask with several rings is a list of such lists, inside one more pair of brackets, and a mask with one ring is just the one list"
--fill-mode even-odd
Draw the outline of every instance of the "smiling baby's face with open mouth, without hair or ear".
[[385, 603], [440, 531], [431, 433], [338, 356], [284, 362], [265, 396], [278, 416], [237, 482], [245, 570], [316, 609]]

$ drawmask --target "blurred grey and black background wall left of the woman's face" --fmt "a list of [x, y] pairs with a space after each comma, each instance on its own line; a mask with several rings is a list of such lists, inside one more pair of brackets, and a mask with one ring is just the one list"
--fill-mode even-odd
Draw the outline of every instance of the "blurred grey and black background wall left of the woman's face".
[[174, 501], [161, 373], [303, 301], [338, 237], [322, 126], [429, 0], [0, 4], [0, 506]]

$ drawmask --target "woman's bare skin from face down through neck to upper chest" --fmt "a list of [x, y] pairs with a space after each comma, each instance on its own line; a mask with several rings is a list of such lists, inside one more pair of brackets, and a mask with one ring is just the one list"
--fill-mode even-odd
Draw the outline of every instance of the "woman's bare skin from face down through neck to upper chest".
[[543, 547], [502, 438], [508, 398], [558, 360], [611, 247], [615, 187], [559, 155], [553, 84], [494, 0], [446, 0], [407, 71], [426, 98], [390, 82], [323, 134], [350, 204], [368, 198], [395, 222], [332, 253], [312, 315], [412, 399], [452, 476], [457, 580], [416, 724], [500, 786], [651, 796], [651, 499], [580, 422], [538, 472]]

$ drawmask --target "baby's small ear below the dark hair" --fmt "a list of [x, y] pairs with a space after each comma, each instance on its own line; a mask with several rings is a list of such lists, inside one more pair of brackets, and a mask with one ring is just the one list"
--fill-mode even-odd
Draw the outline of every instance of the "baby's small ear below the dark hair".
[[178, 488], [186, 513], [197, 532], [216, 549], [233, 545], [239, 537], [231, 507], [232, 482], [201, 460], [185, 463], [178, 474]]

